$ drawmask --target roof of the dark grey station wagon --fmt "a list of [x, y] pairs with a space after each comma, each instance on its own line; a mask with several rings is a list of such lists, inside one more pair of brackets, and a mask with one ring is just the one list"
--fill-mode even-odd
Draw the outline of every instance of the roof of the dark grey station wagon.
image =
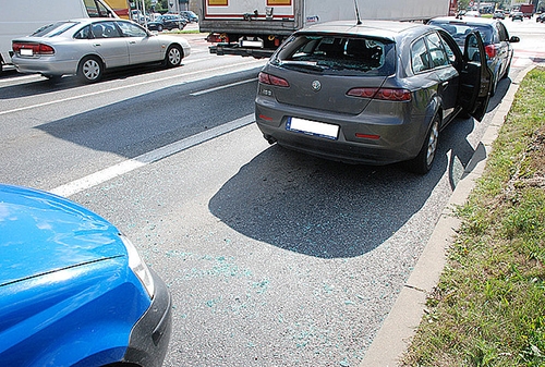
[[424, 32], [431, 27], [410, 22], [395, 21], [362, 21], [362, 24], [356, 24], [356, 21], [338, 21], [316, 24], [306, 27], [301, 33], [331, 33], [331, 34], [348, 34], [359, 36], [372, 36], [395, 39], [399, 34], [405, 32]]

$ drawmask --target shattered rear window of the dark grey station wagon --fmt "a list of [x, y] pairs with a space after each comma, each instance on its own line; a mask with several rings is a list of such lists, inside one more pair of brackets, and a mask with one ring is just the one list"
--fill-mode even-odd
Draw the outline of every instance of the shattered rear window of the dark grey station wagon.
[[347, 35], [299, 34], [271, 59], [287, 69], [328, 75], [379, 75], [395, 72], [395, 44]]

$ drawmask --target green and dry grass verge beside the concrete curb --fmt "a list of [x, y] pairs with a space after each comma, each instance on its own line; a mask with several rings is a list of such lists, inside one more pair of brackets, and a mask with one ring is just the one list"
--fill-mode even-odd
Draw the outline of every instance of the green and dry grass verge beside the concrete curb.
[[545, 69], [531, 71], [465, 205], [403, 366], [545, 366]]

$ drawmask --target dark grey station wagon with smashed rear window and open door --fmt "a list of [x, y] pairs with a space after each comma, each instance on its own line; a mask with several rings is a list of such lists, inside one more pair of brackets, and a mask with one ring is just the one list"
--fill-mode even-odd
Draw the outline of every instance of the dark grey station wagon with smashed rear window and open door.
[[464, 56], [441, 28], [335, 22], [294, 33], [259, 73], [255, 118], [269, 143], [327, 159], [409, 161], [429, 171], [443, 130], [484, 117], [492, 73], [479, 34]]

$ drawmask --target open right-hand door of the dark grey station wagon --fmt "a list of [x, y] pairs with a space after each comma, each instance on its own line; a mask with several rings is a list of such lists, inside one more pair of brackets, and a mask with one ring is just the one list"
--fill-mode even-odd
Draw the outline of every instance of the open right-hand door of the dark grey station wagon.
[[482, 121], [488, 108], [494, 76], [486, 63], [486, 52], [479, 32], [471, 32], [465, 37], [462, 60], [458, 100], [465, 112]]

